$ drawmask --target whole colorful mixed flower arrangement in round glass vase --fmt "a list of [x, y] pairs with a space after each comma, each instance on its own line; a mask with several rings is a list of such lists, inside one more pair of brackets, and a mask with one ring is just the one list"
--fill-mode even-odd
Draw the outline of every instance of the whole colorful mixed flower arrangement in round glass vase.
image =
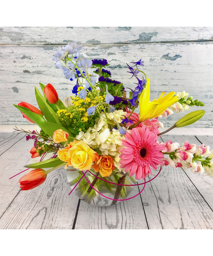
[[[26, 133], [27, 140], [34, 140], [31, 157], [40, 157], [39, 162], [26, 166], [33, 170], [19, 180], [22, 190], [44, 183], [47, 174], [59, 167], [67, 170], [71, 192], [76, 189], [89, 203], [94, 198], [100, 202], [101, 195], [112, 204], [130, 199], [127, 197], [138, 180], [144, 180], [145, 187], [150, 181], [146, 181], [147, 176], [167, 165], [192, 168], [193, 173], [213, 177], [213, 150], [209, 146], [158, 141], [169, 130], [196, 122], [205, 111], [186, 114], [162, 133], [159, 129], [164, 126], [159, 118], [187, 111], [189, 106], [204, 106], [201, 101], [193, 100], [185, 91], [162, 92], [153, 100], [150, 79], [141, 70], [142, 59], [127, 64], [137, 86], [134, 90], [125, 88], [111, 78], [107, 60], [81, 59], [81, 49], [76, 42], [69, 43], [53, 56], [55, 67], [62, 69], [65, 78], [75, 81], [73, 95], [61, 101], [50, 83], [39, 83], [44, 94], [35, 87], [40, 110], [26, 102], [14, 105], [24, 118], [41, 128], [39, 132], [15, 129]], [[139, 114], [135, 112], [137, 107]], [[44, 160], [48, 153], [51, 156]]]

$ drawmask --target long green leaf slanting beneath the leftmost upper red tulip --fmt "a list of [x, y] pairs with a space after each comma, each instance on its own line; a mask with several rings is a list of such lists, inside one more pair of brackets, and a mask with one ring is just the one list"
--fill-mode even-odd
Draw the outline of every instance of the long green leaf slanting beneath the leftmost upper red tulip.
[[33, 122], [35, 122], [46, 134], [48, 134], [51, 138], [53, 137], [53, 133], [58, 130], [62, 129], [63, 131], [67, 132], [71, 137], [75, 137], [69, 130], [64, 128], [62, 125], [59, 125], [54, 122], [47, 122], [41, 115], [38, 115], [32, 111], [30, 111], [26, 107], [14, 105], [18, 110], [22, 111], [27, 117], [29, 117]]

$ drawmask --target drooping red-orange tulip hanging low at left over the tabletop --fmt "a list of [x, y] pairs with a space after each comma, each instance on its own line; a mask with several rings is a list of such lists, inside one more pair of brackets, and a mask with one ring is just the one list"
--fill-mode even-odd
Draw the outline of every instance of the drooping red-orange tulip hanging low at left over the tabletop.
[[20, 178], [20, 188], [22, 188], [22, 190], [34, 189], [41, 185], [46, 180], [46, 177], [46, 171], [43, 169], [34, 169], [33, 171]]

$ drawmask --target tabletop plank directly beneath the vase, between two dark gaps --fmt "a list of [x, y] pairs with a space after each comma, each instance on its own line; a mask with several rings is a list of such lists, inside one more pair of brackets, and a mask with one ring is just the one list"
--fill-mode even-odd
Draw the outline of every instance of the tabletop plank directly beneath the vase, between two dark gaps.
[[[134, 192], [133, 192], [134, 191]], [[138, 193], [136, 186], [130, 196]], [[115, 206], [97, 207], [81, 201], [75, 229], [147, 229], [140, 196]]]

